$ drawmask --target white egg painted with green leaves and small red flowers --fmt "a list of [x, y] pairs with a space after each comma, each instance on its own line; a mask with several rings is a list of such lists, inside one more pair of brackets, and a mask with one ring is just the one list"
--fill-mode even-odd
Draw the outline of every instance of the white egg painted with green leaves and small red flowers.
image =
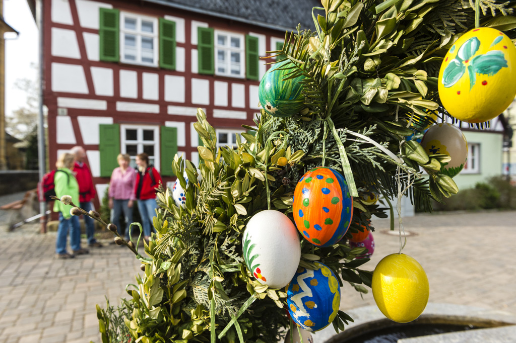
[[244, 261], [254, 278], [270, 288], [285, 287], [301, 260], [301, 245], [293, 222], [276, 210], [252, 216], [243, 236]]

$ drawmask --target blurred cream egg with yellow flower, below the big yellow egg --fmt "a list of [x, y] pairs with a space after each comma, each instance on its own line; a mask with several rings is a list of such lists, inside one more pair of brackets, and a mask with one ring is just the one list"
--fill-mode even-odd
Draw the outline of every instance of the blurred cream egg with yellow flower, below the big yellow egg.
[[467, 160], [467, 141], [462, 131], [454, 125], [439, 123], [426, 131], [421, 146], [428, 155], [442, 153], [451, 160], [441, 167], [441, 173], [453, 178], [460, 173]]

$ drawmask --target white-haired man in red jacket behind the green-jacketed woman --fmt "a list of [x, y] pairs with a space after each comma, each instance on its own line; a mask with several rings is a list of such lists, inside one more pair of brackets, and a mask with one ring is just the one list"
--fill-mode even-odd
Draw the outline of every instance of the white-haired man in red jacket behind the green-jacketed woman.
[[[79, 202], [80, 208], [89, 212], [93, 210], [91, 199], [95, 197], [95, 186], [91, 178], [90, 168], [84, 163], [86, 159], [86, 152], [82, 146], [75, 146], [72, 148], [72, 153], [75, 155], [75, 165], [73, 172], [77, 183], [79, 184]], [[95, 233], [95, 227], [93, 225], [93, 219], [88, 216], [84, 217], [84, 224], [86, 225], [86, 236], [88, 237], [88, 246], [101, 248], [102, 244], [97, 242], [93, 236]]]

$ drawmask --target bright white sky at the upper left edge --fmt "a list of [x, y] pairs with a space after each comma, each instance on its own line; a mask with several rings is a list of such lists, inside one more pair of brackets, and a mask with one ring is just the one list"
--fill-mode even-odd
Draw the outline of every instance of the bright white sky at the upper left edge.
[[18, 38], [13, 33], [5, 36], [5, 114], [24, 107], [27, 95], [15, 88], [17, 79], [36, 82], [38, 64], [38, 28], [26, 0], [4, 0], [4, 20], [20, 32]]

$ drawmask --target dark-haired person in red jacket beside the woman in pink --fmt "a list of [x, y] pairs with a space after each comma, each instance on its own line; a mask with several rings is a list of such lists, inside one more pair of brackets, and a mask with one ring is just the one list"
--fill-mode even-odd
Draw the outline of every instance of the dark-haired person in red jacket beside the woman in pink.
[[143, 226], [143, 235], [149, 241], [151, 229], [153, 229], [152, 218], [156, 214], [156, 189], [162, 183], [159, 171], [151, 164], [149, 165], [149, 155], [140, 153], [136, 156], [138, 174], [134, 188], [135, 197], [138, 200], [138, 211]]

